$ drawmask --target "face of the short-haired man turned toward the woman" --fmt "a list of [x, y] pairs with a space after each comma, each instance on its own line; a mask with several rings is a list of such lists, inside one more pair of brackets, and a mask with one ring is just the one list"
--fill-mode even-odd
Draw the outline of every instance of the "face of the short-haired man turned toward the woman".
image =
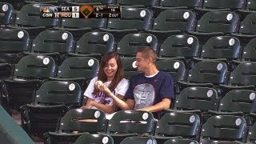
[[137, 53], [135, 65], [137, 66], [137, 70], [143, 73], [149, 67], [149, 60], [147, 58], [143, 58], [142, 53]]

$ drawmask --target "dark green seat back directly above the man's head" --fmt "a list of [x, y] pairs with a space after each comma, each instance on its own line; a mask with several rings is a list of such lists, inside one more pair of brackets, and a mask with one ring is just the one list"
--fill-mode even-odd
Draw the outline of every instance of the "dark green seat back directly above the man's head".
[[140, 48], [152, 48], [158, 54], [158, 39], [153, 34], [126, 34], [118, 42], [117, 53], [134, 57]]

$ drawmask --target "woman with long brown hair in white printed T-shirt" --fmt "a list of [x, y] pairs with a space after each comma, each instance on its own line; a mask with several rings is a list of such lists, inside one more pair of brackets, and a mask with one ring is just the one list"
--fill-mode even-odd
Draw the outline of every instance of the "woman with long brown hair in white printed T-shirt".
[[120, 56], [115, 52], [106, 53], [102, 57], [98, 77], [90, 81], [84, 93], [87, 102], [83, 108], [103, 110], [106, 114], [114, 113], [115, 106], [110, 96], [122, 99], [129, 87], [123, 73]]

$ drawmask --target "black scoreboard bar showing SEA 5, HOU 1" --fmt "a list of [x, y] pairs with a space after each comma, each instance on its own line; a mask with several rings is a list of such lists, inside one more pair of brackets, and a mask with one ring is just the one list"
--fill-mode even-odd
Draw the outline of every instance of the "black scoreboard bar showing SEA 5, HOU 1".
[[41, 18], [121, 18], [120, 6], [41, 6]]

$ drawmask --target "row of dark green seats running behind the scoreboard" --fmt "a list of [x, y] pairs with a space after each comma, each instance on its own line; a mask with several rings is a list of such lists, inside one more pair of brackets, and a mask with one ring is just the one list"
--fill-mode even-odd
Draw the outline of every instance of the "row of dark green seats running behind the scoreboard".
[[[6, 17], [2, 24], [10, 25], [14, 22], [14, 18], [11, 18], [13, 17]], [[255, 37], [254, 21], [255, 14], [248, 14], [239, 26], [239, 16], [233, 11], [210, 11], [197, 21], [194, 12], [178, 9], [164, 10], [153, 18], [150, 10], [138, 7], [122, 8], [122, 18], [40, 18], [39, 5], [26, 5], [18, 11], [14, 26], [10, 25], [10, 27], [27, 30], [30, 37], [35, 37], [42, 30], [54, 28], [68, 30], [74, 34], [74, 38], [90, 30], [102, 30], [114, 34], [117, 38], [122, 38], [128, 33], [146, 31], [155, 34], [158, 39], [166, 38], [162, 38], [162, 35], [181, 33], [191, 33], [201, 37], [232, 34], [248, 39]]]

